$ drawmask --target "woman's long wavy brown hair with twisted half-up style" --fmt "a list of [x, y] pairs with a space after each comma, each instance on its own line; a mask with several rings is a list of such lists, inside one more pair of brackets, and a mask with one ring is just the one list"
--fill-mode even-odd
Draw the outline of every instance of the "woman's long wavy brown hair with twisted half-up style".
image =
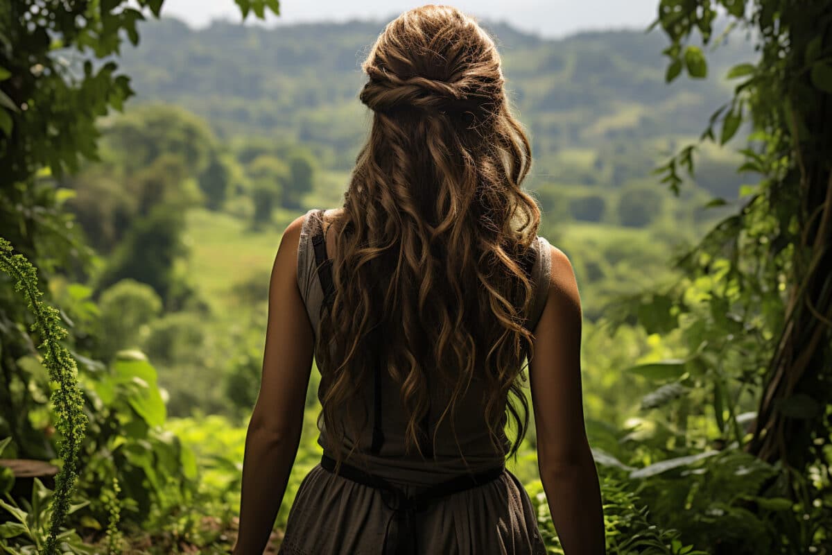
[[[349, 457], [366, 420], [341, 410], [362, 399], [380, 357], [400, 385], [408, 452], [423, 453], [428, 382], [448, 395], [434, 430], [449, 419], [456, 437], [457, 401], [483, 380], [492, 444], [515, 455], [529, 418], [522, 361], [533, 355], [523, 327], [532, 283], [520, 262], [540, 211], [521, 189], [531, 147], [509, 112], [497, 48], [472, 17], [429, 5], [390, 22], [362, 68], [359, 98], [374, 115], [330, 255], [319, 419], [335, 438], [351, 430]], [[510, 445], [499, 433], [508, 414]], [[435, 431], [428, 440], [435, 446]]]

